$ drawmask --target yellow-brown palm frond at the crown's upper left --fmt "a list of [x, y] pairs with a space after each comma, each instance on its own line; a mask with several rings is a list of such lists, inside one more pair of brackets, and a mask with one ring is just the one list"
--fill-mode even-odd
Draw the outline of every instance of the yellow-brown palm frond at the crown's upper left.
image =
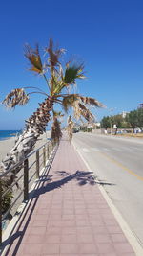
[[39, 54], [38, 44], [36, 45], [35, 50], [33, 50], [31, 46], [27, 44], [25, 46], [25, 56], [31, 62], [30, 70], [38, 74], [43, 74], [44, 68], [43, 68], [42, 60]]

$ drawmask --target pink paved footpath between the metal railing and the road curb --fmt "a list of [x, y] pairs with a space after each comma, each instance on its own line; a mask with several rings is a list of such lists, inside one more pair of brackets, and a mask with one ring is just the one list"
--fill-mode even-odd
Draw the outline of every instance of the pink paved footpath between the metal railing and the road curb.
[[62, 140], [5, 255], [133, 256], [111, 209], [73, 146]]

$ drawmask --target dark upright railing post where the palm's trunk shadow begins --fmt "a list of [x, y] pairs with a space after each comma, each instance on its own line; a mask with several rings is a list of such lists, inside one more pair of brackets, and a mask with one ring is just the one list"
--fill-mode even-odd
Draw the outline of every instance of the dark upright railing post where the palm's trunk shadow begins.
[[24, 161], [24, 200], [29, 199], [29, 160]]

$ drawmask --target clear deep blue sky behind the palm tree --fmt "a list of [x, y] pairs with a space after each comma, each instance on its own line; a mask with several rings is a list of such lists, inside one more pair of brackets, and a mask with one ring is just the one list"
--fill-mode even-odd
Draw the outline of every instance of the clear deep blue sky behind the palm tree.
[[[73, 55], [84, 60], [86, 76], [78, 92], [96, 98], [107, 109], [104, 115], [135, 109], [143, 103], [143, 1], [142, 0], [41, 0], [2, 1], [0, 5], [0, 101], [12, 88], [45, 83], [27, 71], [26, 42], [41, 47], [52, 37]], [[0, 106], [0, 129], [19, 129], [37, 102], [6, 110]]]

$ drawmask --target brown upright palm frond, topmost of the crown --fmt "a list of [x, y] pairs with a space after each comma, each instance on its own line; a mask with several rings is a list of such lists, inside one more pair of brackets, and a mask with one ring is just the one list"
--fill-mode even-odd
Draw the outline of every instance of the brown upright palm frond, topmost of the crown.
[[45, 49], [49, 53], [49, 62], [52, 68], [59, 65], [59, 58], [65, 52], [65, 49], [53, 49], [53, 40], [50, 39], [49, 47]]

